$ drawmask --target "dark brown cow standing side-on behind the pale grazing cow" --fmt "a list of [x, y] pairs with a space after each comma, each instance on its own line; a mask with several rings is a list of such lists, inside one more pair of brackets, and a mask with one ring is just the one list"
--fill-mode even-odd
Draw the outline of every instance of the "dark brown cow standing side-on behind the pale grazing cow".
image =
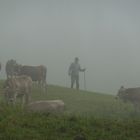
[[41, 85], [41, 87], [44, 87], [45, 90], [47, 89], [46, 83], [47, 68], [43, 65], [40, 66], [19, 65], [18, 75], [30, 76], [32, 81], [38, 82]]

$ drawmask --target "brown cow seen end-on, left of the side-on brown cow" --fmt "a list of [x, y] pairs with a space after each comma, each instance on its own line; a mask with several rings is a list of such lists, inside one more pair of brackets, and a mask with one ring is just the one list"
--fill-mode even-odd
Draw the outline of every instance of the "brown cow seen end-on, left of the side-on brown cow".
[[16, 60], [11, 59], [7, 61], [6, 67], [5, 67], [7, 78], [10, 78], [17, 74], [17, 70], [18, 70], [17, 66], [18, 65], [16, 63]]

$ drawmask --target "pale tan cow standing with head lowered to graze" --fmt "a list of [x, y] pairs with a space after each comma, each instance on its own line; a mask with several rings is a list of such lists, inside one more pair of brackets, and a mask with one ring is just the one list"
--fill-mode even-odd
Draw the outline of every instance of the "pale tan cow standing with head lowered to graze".
[[32, 79], [29, 76], [15, 76], [8, 78], [5, 82], [5, 99], [7, 103], [16, 102], [16, 98], [20, 97], [22, 105], [29, 103], [30, 92], [32, 88]]

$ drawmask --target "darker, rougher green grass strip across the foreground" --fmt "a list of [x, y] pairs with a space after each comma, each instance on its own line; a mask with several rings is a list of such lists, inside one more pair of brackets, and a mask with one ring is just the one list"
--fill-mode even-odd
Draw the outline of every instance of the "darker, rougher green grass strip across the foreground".
[[139, 119], [27, 113], [1, 104], [2, 140], [139, 140]]

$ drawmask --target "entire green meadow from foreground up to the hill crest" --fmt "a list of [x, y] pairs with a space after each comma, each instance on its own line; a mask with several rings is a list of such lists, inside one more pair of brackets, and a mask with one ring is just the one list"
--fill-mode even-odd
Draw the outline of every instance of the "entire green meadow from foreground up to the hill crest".
[[49, 85], [34, 86], [32, 101], [61, 99], [63, 114], [7, 106], [0, 82], [0, 140], [139, 140], [140, 114], [115, 96]]

